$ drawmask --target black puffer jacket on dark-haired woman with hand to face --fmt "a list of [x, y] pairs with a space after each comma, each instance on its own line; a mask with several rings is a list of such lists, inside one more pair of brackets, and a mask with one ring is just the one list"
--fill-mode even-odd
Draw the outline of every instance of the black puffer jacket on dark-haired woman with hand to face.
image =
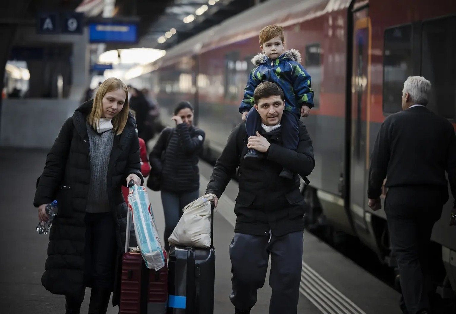
[[161, 190], [192, 192], [199, 189], [198, 160], [204, 131], [185, 123], [164, 129], [149, 160], [151, 176], [161, 174]]

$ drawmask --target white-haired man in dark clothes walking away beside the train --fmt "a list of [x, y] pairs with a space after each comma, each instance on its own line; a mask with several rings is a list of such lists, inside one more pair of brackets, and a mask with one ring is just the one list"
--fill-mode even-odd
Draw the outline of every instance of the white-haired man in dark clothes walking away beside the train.
[[[456, 199], [456, 136], [451, 123], [426, 108], [431, 84], [421, 76], [404, 83], [402, 109], [388, 116], [377, 135], [369, 170], [369, 207], [385, 213], [399, 267], [405, 314], [430, 313], [426, 284], [432, 227], [451, 193]], [[456, 207], [456, 202], [455, 202]]]

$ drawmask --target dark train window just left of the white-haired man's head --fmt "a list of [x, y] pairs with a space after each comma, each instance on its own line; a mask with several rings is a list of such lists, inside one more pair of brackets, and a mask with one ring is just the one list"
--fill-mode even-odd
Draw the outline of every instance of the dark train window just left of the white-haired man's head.
[[412, 75], [412, 26], [385, 30], [383, 48], [383, 113], [401, 110], [402, 89]]

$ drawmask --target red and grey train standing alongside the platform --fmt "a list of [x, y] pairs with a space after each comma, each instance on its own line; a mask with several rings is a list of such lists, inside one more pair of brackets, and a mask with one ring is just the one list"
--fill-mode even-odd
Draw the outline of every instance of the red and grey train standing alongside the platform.
[[[250, 59], [260, 52], [260, 29], [270, 24], [285, 27], [285, 49], [301, 52], [315, 91], [315, 108], [303, 120], [316, 158], [303, 191], [309, 224], [324, 221], [357, 236], [394, 267], [385, 214], [367, 206], [369, 157], [385, 116], [400, 110], [409, 75], [431, 80], [430, 109], [454, 122], [456, 1], [269, 0], [176, 45], [136, 80], [155, 91], [165, 122], [179, 100], [193, 101], [209, 158], [218, 156], [241, 121]], [[456, 290], [451, 204], [433, 241], [441, 246], [434, 258]]]

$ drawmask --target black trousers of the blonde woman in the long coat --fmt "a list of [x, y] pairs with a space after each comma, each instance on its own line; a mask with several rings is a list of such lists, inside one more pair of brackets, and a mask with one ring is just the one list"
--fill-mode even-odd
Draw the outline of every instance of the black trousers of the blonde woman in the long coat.
[[[114, 285], [115, 221], [111, 213], [86, 213], [84, 283], [88, 287], [112, 289]], [[67, 296], [68, 304], [81, 304], [85, 288]]]

